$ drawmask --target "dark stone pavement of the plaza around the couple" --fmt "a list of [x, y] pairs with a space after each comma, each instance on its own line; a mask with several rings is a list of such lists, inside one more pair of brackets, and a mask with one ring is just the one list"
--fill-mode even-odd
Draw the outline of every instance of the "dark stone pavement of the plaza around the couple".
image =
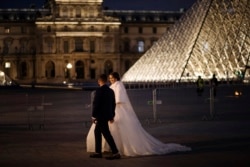
[[[249, 88], [241, 88], [243, 95], [246, 93], [242, 97], [231, 96], [234, 89], [220, 89], [221, 95], [215, 104], [217, 115], [215, 119], [206, 121], [202, 119], [204, 115], [209, 118], [206, 93], [202, 98], [195, 94], [186, 98], [185, 95], [192, 94], [192, 88], [162, 90], [158, 98], [163, 103], [158, 107], [156, 122], [152, 121], [152, 106], [146, 104], [151, 98], [150, 90], [129, 90], [135, 111], [150, 134], [165, 143], [190, 146], [192, 151], [161, 156], [122, 156], [120, 160], [113, 161], [91, 159], [86, 153], [90, 92], [0, 90], [0, 166], [249, 166], [250, 105], [246, 93]], [[51, 104], [45, 106], [44, 129], [39, 126], [28, 129], [25, 117], [22, 118], [26, 113], [27, 106], [22, 104], [27, 94], [42, 95], [45, 102]]]

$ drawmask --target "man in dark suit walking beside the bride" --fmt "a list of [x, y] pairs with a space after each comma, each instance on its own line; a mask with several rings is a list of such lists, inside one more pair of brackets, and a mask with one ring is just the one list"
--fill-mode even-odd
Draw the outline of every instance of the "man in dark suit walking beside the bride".
[[114, 139], [109, 131], [108, 122], [114, 121], [115, 116], [115, 94], [108, 87], [107, 76], [102, 74], [98, 78], [99, 88], [96, 90], [93, 100], [92, 121], [95, 127], [95, 153], [91, 158], [102, 158], [102, 135], [112, 150], [112, 156], [106, 159], [119, 159], [121, 156], [118, 152]]

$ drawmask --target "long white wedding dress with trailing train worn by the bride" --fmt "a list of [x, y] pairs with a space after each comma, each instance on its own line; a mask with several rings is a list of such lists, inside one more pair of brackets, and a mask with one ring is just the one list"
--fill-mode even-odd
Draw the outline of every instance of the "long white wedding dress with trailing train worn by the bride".
[[[128, 98], [126, 89], [121, 81], [110, 86], [115, 92], [116, 109], [114, 122], [109, 124], [110, 132], [121, 155], [161, 155], [177, 151], [190, 151], [191, 148], [175, 144], [162, 143], [141, 126]], [[87, 152], [95, 152], [95, 124], [92, 124], [87, 135]], [[103, 141], [102, 151], [110, 151], [108, 144]]]

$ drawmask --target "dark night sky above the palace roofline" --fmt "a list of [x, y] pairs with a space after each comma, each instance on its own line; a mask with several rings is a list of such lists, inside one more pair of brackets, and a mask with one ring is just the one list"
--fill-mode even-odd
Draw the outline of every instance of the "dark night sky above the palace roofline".
[[[44, 0], [2, 0], [0, 8], [29, 8], [35, 4], [41, 8]], [[124, 10], [179, 10], [188, 9], [196, 0], [103, 0], [103, 6], [109, 9]]]

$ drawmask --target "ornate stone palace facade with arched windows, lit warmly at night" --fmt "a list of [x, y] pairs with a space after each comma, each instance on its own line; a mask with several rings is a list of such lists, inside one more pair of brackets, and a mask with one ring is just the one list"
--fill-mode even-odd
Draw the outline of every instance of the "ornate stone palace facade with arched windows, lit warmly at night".
[[88, 82], [124, 74], [184, 13], [108, 10], [103, 0], [0, 9], [0, 71], [18, 83]]

